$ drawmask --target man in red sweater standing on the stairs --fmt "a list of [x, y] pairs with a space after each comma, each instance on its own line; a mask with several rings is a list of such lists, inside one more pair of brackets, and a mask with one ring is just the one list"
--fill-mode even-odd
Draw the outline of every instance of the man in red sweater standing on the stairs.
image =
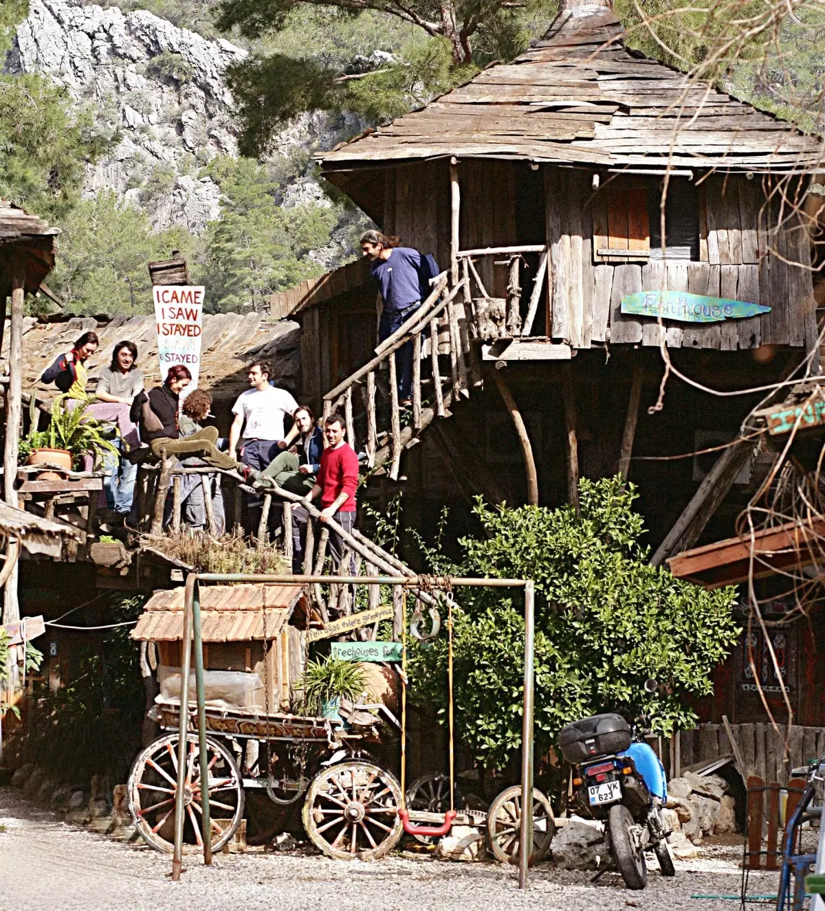
[[[321, 455], [321, 467], [315, 486], [304, 497], [311, 503], [316, 496], [321, 496], [321, 517], [319, 521], [332, 519], [345, 532], [352, 533], [356, 524], [356, 487], [358, 486], [358, 456], [352, 446], [344, 442], [344, 418], [333, 414], [325, 420], [324, 435], [326, 448]], [[304, 546], [306, 541], [306, 523], [309, 513], [303, 507], [295, 507], [293, 513], [293, 572], [301, 573], [304, 569]], [[329, 552], [333, 566], [338, 568], [344, 541], [340, 535], [330, 529]]]

